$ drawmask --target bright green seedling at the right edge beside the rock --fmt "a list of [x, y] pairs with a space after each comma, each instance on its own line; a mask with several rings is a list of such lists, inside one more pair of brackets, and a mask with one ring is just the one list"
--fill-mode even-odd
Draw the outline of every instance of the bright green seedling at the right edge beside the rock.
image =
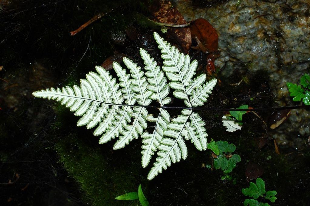
[[304, 74], [300, 78], [300, 85], [288, 82], [287, 87], [290, 91], [290, 96], [294, 97], [294, 102], [303, 100], [305, 105], [310, 105], [310, 75]]

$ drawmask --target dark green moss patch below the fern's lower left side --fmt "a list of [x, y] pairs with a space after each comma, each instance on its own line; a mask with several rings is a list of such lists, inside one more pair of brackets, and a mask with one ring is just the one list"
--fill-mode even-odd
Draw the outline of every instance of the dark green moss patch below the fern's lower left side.
[[77, 133], [69, 134], [56, 145], [60, 162], [81, 186], [86, 202], [94, 205], [129, 205], [114, 198], [125, 191], [136, 190], [141, 183], [137, 152], [131, 149], [130, 155], [125, 152], [127, 158], [117, 158], [117, 154], [112, 154], [110, 149], [104, 150], [100, 150], [99, 145], [93, 147], [81, 140]]

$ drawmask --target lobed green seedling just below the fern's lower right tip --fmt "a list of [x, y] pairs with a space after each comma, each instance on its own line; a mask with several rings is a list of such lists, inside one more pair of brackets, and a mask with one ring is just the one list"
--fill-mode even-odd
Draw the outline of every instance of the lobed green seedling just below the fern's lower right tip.
[[236, 167], [236, 163], [241, 161], [238, 154], [232, 154], [236, 150], [234, 144], [228, 144], [227, 141], [212, 141], [208, 144], [208, 149], [212, 150], [214, 160], [214, 168], [216, 170], [221, 169], [224, 172], [222, 180], [231, 180], [232, 176], [229, 173]]

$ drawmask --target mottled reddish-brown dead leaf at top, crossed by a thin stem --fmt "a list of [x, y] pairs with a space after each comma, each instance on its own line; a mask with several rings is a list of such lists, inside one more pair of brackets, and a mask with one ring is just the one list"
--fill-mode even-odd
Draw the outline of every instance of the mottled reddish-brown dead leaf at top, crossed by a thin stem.
[[[156, 0], [149, 6], [150, 13], [160, 23], [186, 24], [184, 17], [168, 0]], [[180, 45], [184, 53], [188, 53], [192, 45], [191, 31], [188, 27], [171, 27], [167, 32], [167, 38]]]

